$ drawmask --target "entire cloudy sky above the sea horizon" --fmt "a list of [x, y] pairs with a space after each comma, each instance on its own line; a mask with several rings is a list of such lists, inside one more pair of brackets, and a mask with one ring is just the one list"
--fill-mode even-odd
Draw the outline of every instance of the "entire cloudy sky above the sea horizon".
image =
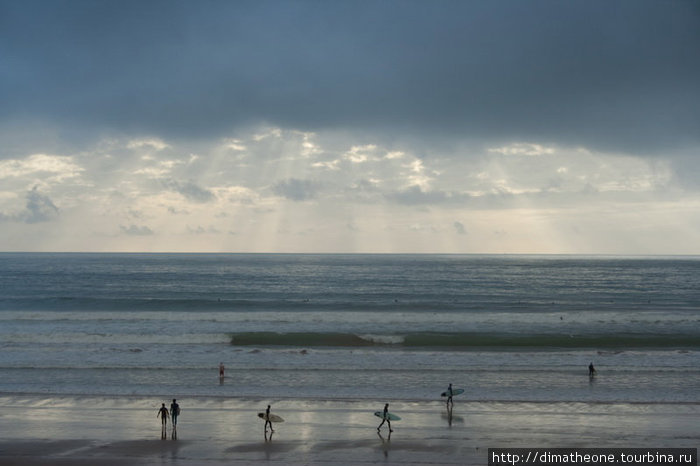
[[700, 254], [700, 2], [0, 0], [0, 251]]

